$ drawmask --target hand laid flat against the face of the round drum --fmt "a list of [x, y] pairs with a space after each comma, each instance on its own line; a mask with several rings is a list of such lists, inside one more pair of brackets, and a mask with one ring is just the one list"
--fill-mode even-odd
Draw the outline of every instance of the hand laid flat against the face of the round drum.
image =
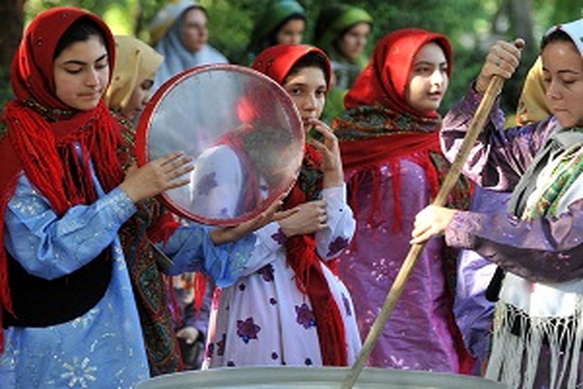
[[177, 178], [194, 169], [189, 164], [190, 162], [192, 162], [191, 157], [185, 156], [182, 152], [174, 152], [154, 159], [139, 168], [134, 164], [129, 167], [120, 188], [136, 203], [168, 189], [181, 187], [188, 184], [190, 180]]

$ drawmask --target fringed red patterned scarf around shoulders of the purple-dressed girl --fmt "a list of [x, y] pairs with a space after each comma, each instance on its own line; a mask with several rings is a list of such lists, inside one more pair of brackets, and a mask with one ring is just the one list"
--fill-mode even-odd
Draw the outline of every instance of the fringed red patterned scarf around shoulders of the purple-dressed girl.
[[[346, 175], [350, 177], [350, 206], [355, 215], [358, 212], [358, 192], [360, 184], [371, 180], [373, 183], [373, 207], [368, 222], [378, 226], [386, 222], [381, 206], [381, 166], [391, 170], [393, 183], [393, 204], [395, 206], [392, 230], [401, 230], [401, 160], [417, 163], [426, 172], [431, 196], [435, 197], [444, 180], [449, 163], [441, 153], [438, 129], [439, 118], [415, 117], [412, 114], [398, 114], [388, 107], [358, 107], [340, 114], [332, 127], [340, 140], [340, 151]], [[447, 204], [455, 209], [467, 209], [472, 197], [470, 181], [460, 178]], [[381, 215], [377, 218], [377, 215]], [[457, 252], [444, 247], [442, 254], [444, 274], [447, 281], [447, 303], [452, 307], [455, 293], [455, 272]], [[451, 310], [450, 310], [451, 312]], [[475, 360], [468, 353], [452, 314], [447, 317], [448, 327], [454, 337], [459, 357], [460, 372], [472, 372]]]

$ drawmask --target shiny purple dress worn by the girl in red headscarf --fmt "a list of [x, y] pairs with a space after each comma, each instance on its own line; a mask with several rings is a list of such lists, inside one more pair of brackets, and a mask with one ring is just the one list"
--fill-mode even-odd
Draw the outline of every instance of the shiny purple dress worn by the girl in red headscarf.
[[[394, 180], [387, 165], [382, 165], [380, 170], [381, 212], [386, 221], [376, 227], [368, 223], [374, 203], [373, 183], [371, 180], [361, 183], [357, 193], [355, 243], [340, 257], [340, 278], [353, 296], [363, 339], [409, 251], [413, 219], [430, 203], [430, 186], [424, 169], [402, 159], [402, 229], [392, 232]], [[368, 359], [370, 366], [458, 372], [458, 353], [451, 333], [452, 299], [445, 285], [441, 248], [441, 238], [427, 243]]]

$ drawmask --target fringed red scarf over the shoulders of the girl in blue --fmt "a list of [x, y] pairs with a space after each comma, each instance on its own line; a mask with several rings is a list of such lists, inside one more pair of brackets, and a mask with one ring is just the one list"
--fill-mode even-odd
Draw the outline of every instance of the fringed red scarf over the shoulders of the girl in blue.
[[[49, 122], [33, 108], [12, 101], [5, 106], [2, 121], [7, 127], [0, 141], [5, 163], [0, 182], [2, 220], [21, 171], [48, 199], [59, 216], [64, 215], [71, 206], [96, 201], [90, 160], [106, 191], [115, 188], [124, 177], [116, 156], [119, 129], [103, 101], [92, 111], [80, 112], [69, 120], [57, 122]], [[79, 159], [79, 155], [83, 158]], [[3, 236], [3, 222], [1, 225], [0, 236]], [[12, 313], [7, 261], [2, 243], [1, 300], [3, 307]], [[1, 344], [3, 347], [3, 336]]]

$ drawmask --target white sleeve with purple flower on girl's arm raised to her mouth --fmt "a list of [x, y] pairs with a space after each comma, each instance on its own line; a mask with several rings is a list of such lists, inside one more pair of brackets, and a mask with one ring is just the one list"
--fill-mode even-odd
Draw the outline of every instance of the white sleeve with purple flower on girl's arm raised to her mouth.
[[356, 221], [346, 203], [346, 184], [322, 190], [322, 198], [327, 204], [328, 228], [316, 233], [316, 248], [320, 257], [331, 259], [349, 246]]

